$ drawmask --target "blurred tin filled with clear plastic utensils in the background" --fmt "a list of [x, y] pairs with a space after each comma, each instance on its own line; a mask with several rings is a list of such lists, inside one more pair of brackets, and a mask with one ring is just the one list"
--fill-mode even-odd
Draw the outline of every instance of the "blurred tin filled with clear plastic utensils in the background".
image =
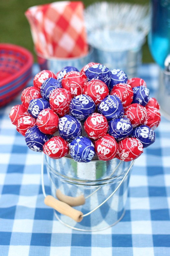
[[98, 2], [85, 9], [88, 43], [95, 62], [135, 77], [142, 62], [142, 45], [150, 28], [148, 6]]

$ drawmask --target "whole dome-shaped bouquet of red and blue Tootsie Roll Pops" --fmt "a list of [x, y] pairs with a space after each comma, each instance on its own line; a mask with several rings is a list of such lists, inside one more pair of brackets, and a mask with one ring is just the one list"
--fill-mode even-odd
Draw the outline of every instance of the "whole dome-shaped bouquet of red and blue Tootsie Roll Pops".
[[11, 109], [11, 122], [30, 149], [53, 159], [134, 160], [155, 141], [160, 123], [159, 104], [144, 80], [128, 80], [122, 70], [99, 63], [80, 72], [70, 66], [56, 75], [43, 70], [21, 101]]

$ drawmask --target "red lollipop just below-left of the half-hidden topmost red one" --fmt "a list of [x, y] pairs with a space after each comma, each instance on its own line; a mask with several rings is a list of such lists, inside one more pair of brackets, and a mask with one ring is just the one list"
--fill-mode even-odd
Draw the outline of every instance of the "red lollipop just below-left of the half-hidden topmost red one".
[[85, 83], [86, 75], [78, 71], [70, 71], [62, 79], [62, 87], [71, 92], [72, 98], [83, 93]]

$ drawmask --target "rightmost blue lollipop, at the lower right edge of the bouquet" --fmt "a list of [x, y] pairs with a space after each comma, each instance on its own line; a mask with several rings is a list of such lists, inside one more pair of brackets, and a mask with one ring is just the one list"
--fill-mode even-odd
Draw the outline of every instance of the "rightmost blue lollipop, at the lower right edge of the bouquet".
[[143, 144], [143, 148], [145, 148], [153, 144], [156, 136], [155, 132], [149, 126], [141, 125], [133, 129], [130, 137], [139, 139]]

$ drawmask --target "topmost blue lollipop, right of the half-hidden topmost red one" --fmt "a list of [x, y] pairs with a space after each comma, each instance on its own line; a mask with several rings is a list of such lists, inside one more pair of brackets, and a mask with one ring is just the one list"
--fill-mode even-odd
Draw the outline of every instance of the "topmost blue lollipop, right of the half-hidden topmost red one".
[[104, 65], [97, 64], [97, 65], [89, 67], [85, 71], [85, 75], [86, 75], [88, 81], [97, 79], [97, 80], [100, 80], [100, 81], [106, 83], [107, 86], [109, 85], [110, 71]]

